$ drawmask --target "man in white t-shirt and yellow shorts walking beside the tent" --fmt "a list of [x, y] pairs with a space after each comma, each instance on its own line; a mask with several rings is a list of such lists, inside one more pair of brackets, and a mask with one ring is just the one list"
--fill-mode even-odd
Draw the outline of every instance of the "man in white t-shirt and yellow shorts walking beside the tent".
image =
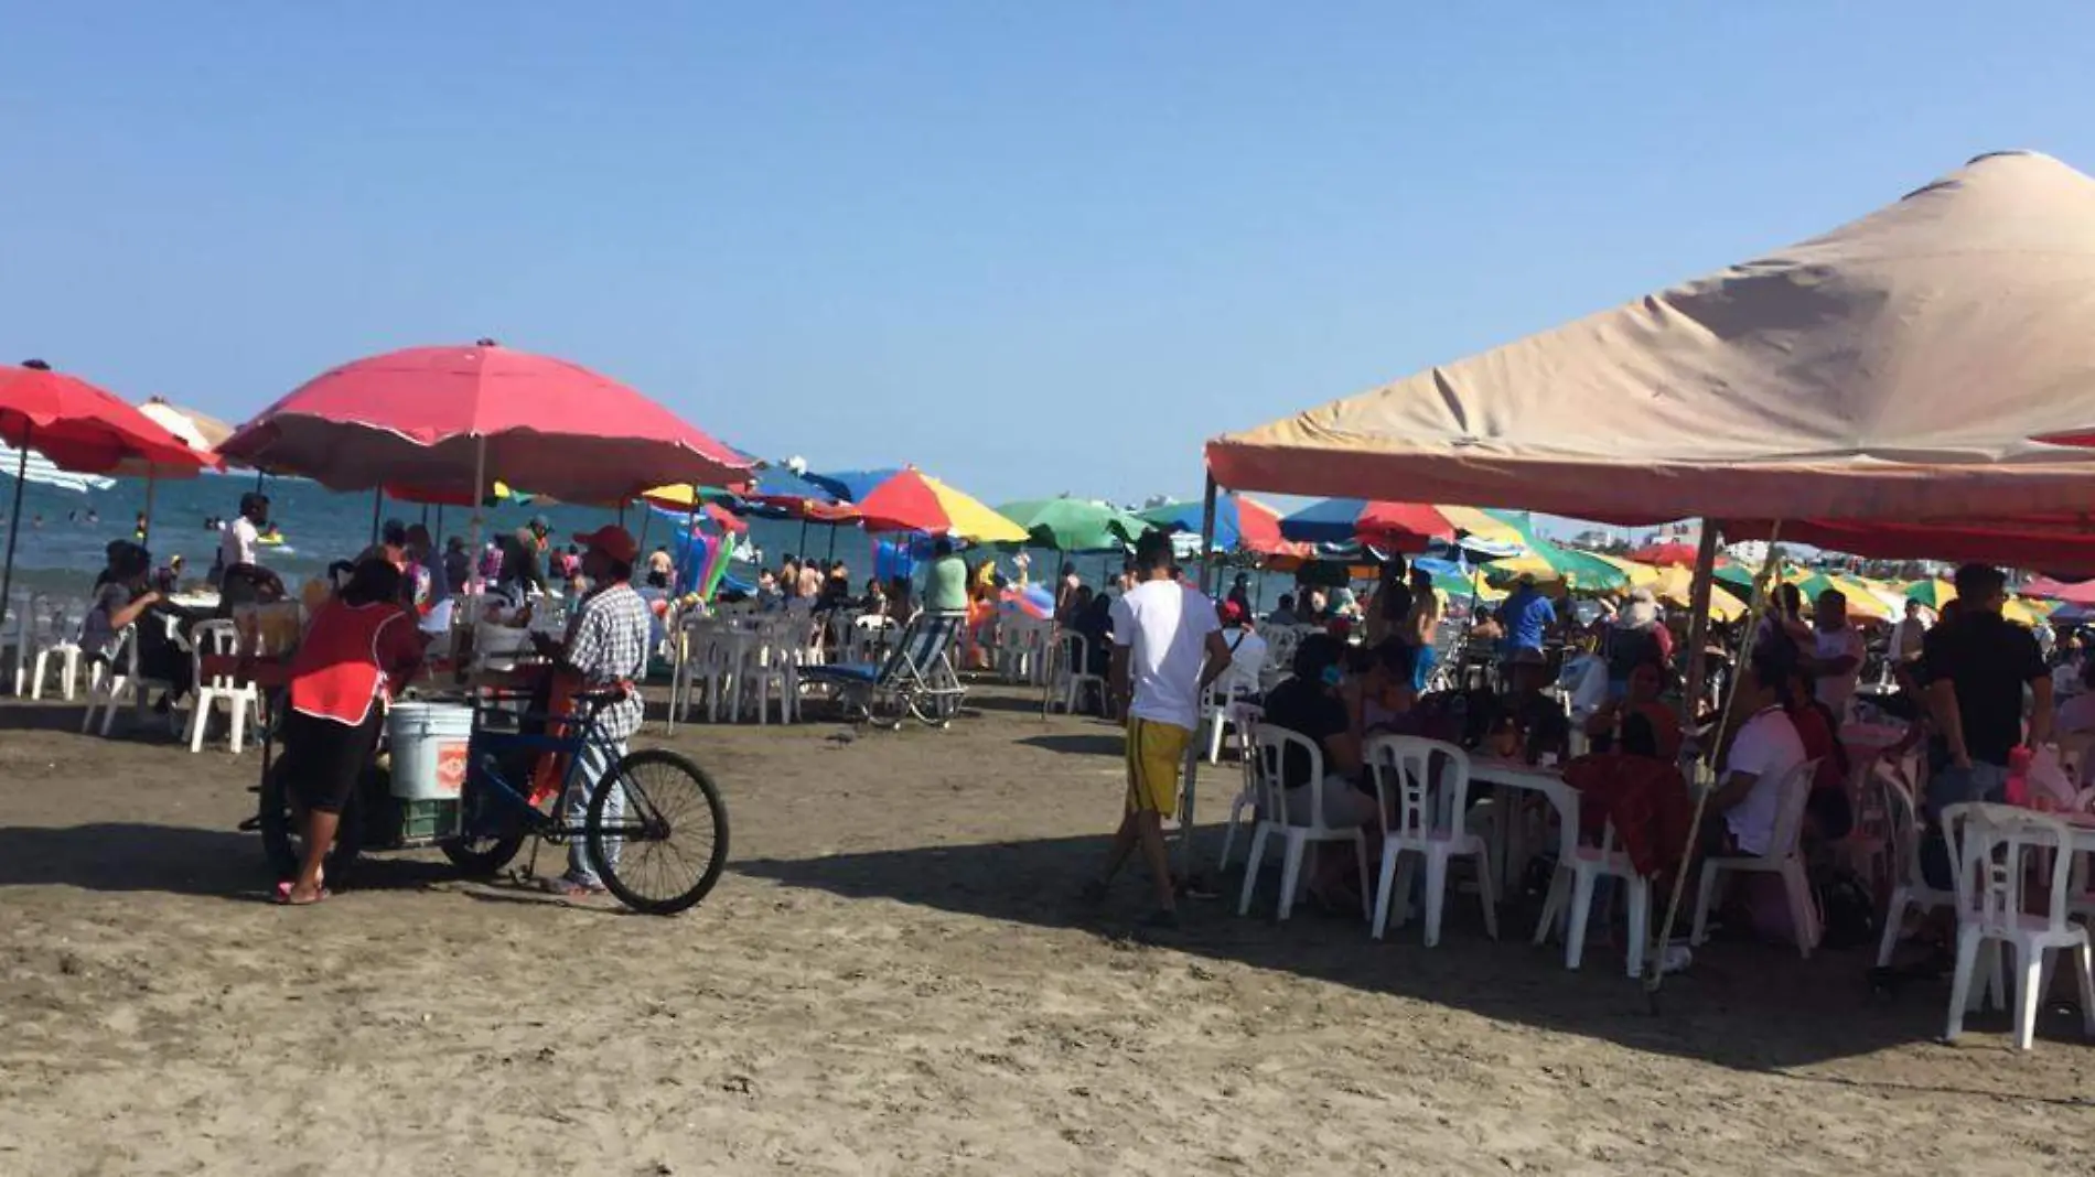
[[1112, 666], [1108, 683], [1127, 716], [1127, 810], [1112, 836], [1106, 873], [1087, 890], [1104, 898], [1106, 884], [1142, 846], [1156, 888], [1150, 928], [1177, 928], [1177, 898], [1165, 854], [1165, 815], [1177, 810], [1179, 767], [1200, 727], [1200, 697], [1230, 668], [1215, 603], [1177, 582], [1171, 536], [1144, 532], [1135, 542], [1135, 586], [1112, 603]]

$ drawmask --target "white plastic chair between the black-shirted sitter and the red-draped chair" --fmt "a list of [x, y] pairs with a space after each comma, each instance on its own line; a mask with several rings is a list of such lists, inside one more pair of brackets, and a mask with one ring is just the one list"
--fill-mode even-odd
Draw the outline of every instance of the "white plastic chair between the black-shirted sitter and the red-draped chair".
[[[1389, 928], [1395, 907], [1397, 928], [1410, 915], [1412, 869], [1427, 863], [1427, 947], [1439, 945], [1448, 907], [1448, 863], [1477, 859], [1477, 894], [1483, 898], [1483, 930], [1498, 938], [1498, 894], [1492, 880], [1492, 850], [1469, 831], [1469, 752], [1454, 743], [1416, 735], [1383, 735], [1368, 741], [1368, 771], [1374, 773], [1376, 808], [1383, 813], [1383, 873], [1374, 888], [1374, 938]], [[1435, 777], [1435, 769], [1439, 775]]]

